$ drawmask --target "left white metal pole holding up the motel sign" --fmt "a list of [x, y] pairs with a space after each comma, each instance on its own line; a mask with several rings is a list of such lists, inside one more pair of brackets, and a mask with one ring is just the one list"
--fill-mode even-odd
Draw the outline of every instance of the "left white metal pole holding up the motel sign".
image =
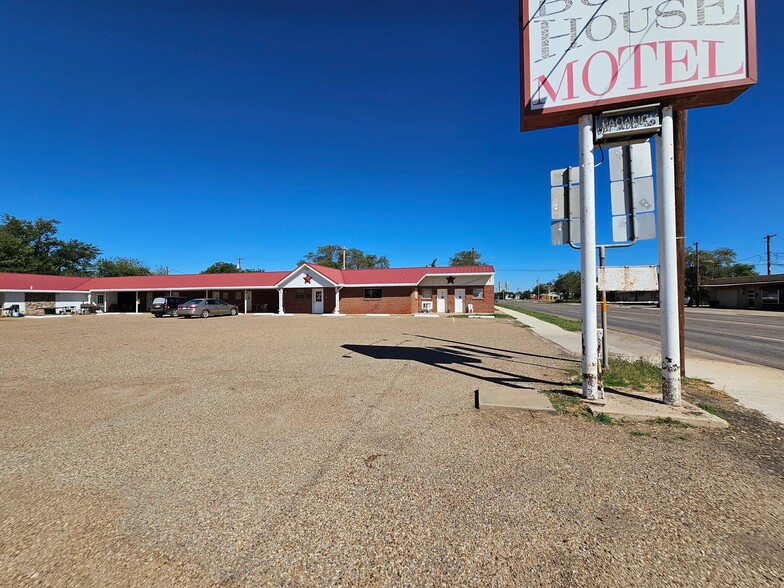
[[596, 194], [593, 161], [593, 116], [580, 117], [580, 281], [583, 318], [583, 397], [597, 400], [598, 339], [596, 336]]

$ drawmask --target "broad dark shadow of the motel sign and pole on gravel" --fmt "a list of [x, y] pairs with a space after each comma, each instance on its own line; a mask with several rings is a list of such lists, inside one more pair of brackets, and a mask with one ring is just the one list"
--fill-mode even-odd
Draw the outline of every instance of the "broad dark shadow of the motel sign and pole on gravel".
[[[469, 378], [483, 380], [509, 388], [529, 388], [534, 386], [525, 384], [547, 384], [548, 386], [563, 386], [563, 382], [551, 382], [537, 378], [529, 378], [520, 374], [497, 370], [482, 365], [482, 359], [465, 353], [459, 353], [451, 348], [439, 347], [403, 347], [396, 345], [343, 345], [347, 350], [344, 358], [351, 358], [352, 353], [359, 353], [366, 357], [379, 360], [416, 361], [425, 365], [447, 370]], [[468, 370], [478, 370], [479, 373]]]

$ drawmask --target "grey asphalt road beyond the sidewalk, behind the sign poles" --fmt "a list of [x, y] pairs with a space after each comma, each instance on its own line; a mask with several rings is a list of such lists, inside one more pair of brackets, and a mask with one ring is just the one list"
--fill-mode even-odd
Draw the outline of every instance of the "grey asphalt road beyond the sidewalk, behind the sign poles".
[[[579, 304], [511, 300], [506, 304], [580, 320]], [[784, 313], [716, 308], [686, 308], [685, 311], [687, 350], [707, 351], [784, 370]], [[659, 320], [659, 309], [653, 306], [608, 305], [610, 336], [617, 330], [658, 341]]]

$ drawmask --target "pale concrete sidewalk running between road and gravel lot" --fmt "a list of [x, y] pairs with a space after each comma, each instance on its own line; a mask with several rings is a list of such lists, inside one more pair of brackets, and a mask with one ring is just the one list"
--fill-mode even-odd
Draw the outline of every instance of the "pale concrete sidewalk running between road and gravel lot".
[[[545, 339], [557, 343], [577, 355], [582, 354], [582, 337], [578, 332], [564, 331], [522, 312], [496, 306], [497, 312], [514, 317]], [[661, 350], [658, 341], [610, 330], [608, 333], [610, 353], [636, 359], [644, 357], [660, 362]], [[784, 371], [744, 363], [693, 349], [686, 350], [686, 373], [691, 378], [710, 382], [747, 408], [779, 423], [784, 423]]]

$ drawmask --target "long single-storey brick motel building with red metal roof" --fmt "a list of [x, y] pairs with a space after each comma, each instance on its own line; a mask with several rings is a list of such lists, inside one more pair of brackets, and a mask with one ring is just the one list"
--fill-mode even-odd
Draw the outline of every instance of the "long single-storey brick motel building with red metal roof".
[[27, 316], [146, 313], [159, 296], [220, 298], [241, 313], [492, 313], [492, 266], [340, 270], [304, 263], [291, 272], [85, 278], [0, 273], [0, 304]]

